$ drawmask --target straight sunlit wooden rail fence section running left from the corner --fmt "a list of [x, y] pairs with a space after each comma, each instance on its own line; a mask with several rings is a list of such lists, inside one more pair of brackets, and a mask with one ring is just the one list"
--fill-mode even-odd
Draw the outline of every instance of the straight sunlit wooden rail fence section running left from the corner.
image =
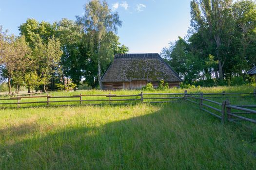
[[[168, 96], [168, 97], [149, 97], [153, 95], [158, 96]], [[170, 97], [173, 95], [180, 95], [180, 97]], [[104, 102], [109, 104], [118, 104], [113, 102], [143, 102], [143, 103], [164, 103], [164, 102], [180, 102], [184, 99], [183, 97], [184, 93], [144, 93], [141, 92], [139, 94], [135, 95], [116, 95], [116, 94], [104, 94], [104, 95], [73, 95], [73, 96], [18, 96], [18, 97], [10, 97], [5, 99], [0, 99], [0, 105], [16, 105], [17, 108], [20, 108], [20, 105], [22, 104], [36, 104], [36, 103], [45, 103], [46, 106], [50, 106], [50, 103], [63, 103], [63, 102], [77, 102], [81, 105], [84, 104], [84, 102], [90, 102], [87, 103], [88, 105], [95, 105], [97, 103], [94, 102]], [[89, 98], [89, 97], [101, 97], [100, 99], [82, 99], [83, 97]], [[106, 97], [106, 99], [102, 99], [102, 97]], [[127, 97], [129, 97], [127, 99]], [[133, 98], [132, 98], [133, 97]], [[136, 97], [136, 98], [134, 98]], [[45, 101], [33, 101], [33, 102], [21, 102], [22, 99], [30, 99], [30, 98], [45, 98]], [[75, 100], [68, 100], [70, 98], [74, 98]], [[125, 99], [123, 99], [125, 98]], [[51, 99], [67, 99], [67, 100], [58, 100], [58, 101], [52, 101]], [[154, 100], [154, 101], [152, 101]], [[159, 101], [161, 100], [161, 101]], [[17, 102], [2, 102], [2, 101], [17, 101]], [[102, 104], [102, 103], [101, 103]], [[119, 104], [129, 104], [129, 103], [119, 103]]]

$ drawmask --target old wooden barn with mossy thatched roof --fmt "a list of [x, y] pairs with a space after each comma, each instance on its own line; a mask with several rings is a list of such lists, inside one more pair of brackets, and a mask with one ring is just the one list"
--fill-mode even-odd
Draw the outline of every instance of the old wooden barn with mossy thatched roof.
[[164, 80], [169, 87], [182, 81], [158, 53], [116, 54], [101, 78], [102, 89], [140, 89], [151, 82], [155, 87]]

